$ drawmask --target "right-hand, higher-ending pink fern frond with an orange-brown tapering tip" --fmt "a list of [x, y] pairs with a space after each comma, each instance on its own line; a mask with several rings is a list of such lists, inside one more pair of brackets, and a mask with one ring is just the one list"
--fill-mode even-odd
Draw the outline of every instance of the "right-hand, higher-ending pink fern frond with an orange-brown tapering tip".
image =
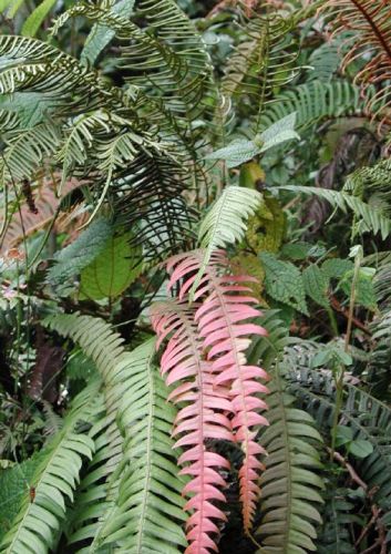
[[[171, 286], [179, 285], [182, 297], [191, 289], [194, 275], [200, 267], [203, 253], [194, 250], [175, 256], [169, 263]], [[259, 496], [259, 473], [263, 465], [259, 455], [264, 453], [256, 441], [256, 430], [267, 425], [267, 419], [259, 412], [266, 403], [258, 398], [267, 392], [259, 379], [267, 379], [267, 373], [258, 367], [248, 366], [246, 350], [251, 335], [267, 335], [266, 330], [249, 319], [259, 316], [257, 300], [248, 295], [250, 289], [245, 285], [254, 278], [228, 275], [228, 259], [224, 252], [215, 252], [204, 277], [195, 291], [195, 321], [198, 324], [202, 348], [209, 363], [214, 387], [229, 387], [229, 398], [234, 417], [231, 420], [235, 440], [240, 443], [244, 462], [239, 471], [240, 500], [245, 531], [249, 532], [256, 502]]]

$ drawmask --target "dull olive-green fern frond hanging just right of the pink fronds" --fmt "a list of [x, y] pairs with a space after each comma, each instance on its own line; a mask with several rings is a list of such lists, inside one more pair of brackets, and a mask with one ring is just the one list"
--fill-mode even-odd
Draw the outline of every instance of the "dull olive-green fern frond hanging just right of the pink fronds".
[[295, 398], [286, 392], [278, 376], [272, 375], [268, 396], [269, 427], [259, 437], [268, 452], [260, 478], [260, 525], [257, 538], [259, 554], [305, 554], [316, 551], [316, 525], [321, 522], [317, 504], [323, 481], [319, 444], [321, 437], [313, 419], [294, 408]]

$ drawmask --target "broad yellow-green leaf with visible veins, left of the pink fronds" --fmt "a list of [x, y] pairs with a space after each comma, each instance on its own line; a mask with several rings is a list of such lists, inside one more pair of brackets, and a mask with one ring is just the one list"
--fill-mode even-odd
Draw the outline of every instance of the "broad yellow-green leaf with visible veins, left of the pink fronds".
[[110, 237], [103, 250], [82, 270], [81, 297], [100, 300], [121, 295], [141, 274], [141, 248], [132, 235]]

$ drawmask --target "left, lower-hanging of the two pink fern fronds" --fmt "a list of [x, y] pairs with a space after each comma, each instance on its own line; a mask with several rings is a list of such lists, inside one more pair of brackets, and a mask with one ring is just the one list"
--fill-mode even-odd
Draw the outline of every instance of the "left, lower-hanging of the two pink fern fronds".
[[[192, 267], [187, 264], [186, 271]], [[181, 406], [173, 435], [177, 439], [175, 447], [185, 449], [178, 460], [185, 465], [181, 473], [191, 475], [183, 491], [189, 497], [185, 510], [192, 512], [186, 524], [189, 542], [186, 554], [217, 551], [210, 533], [217, 534], [218, 526], [212, 520], [226, 520], [214, 504], [225, 502], [220, 489], [226, 483], [218, 470], [228, 469], [229, 463], [222, 455], [208, 452], [206, 441], [234, 441], [229, 389], [215, 383], [213, 362], [204, 356], [194, 320], [195, 309], [185, 302], [167, 301], [155, 305], [151, 314], [158, 343], [167, 340], [161, 370], [167, 384], [176, 384], [169, 400]]]

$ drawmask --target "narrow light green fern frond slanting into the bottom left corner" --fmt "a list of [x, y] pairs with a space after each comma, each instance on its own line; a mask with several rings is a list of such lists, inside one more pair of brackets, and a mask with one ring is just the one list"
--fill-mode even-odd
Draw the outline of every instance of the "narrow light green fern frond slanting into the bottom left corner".
[[92, 458], [94, 442], [78, 428], [93, 422], [100, 381], [92, 382], [75, 399], [63, 429], [49, 443], [32, 478], [34, 499], [27, 493], [21, 510], [6, 534], [0, 551], [7, 554], [41, 553], [53, 548], [65, 517], [65, 503], [73, 502], [83, 458]]

